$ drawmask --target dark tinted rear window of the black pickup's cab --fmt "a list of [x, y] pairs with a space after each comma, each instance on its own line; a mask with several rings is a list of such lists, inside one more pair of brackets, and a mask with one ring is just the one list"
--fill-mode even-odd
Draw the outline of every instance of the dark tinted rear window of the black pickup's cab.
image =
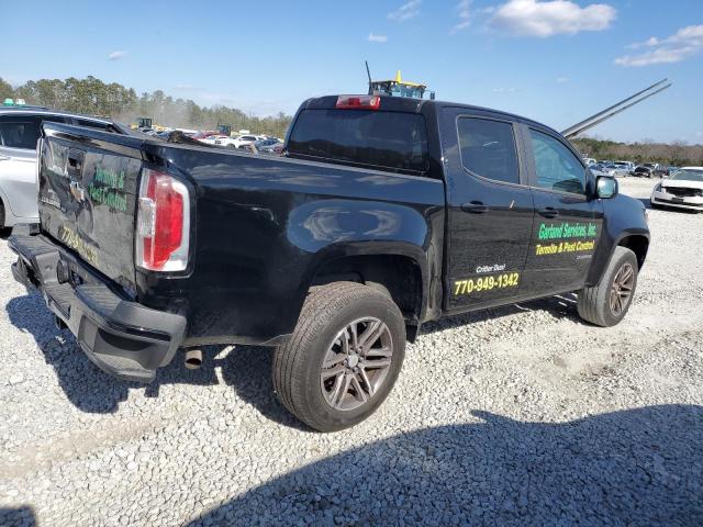
[[305, 156], [393, 171], [427, 170], [427, 131], [416, 113], [375, 110], [304, 110], [288, 142]]

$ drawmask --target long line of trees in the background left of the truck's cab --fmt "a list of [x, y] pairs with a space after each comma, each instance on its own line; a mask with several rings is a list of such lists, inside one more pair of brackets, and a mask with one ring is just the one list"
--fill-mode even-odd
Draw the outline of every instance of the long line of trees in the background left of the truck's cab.
[[258, 117], [225, 105], [201, 106], [190, 99], [174, 99], [161, 90], [137, 94], [134, 88], [118, 82], [105, 83], [89, 76], [85, 79], [30, 80], [12, 88], [0, 78], [0, 99], [21, 98], [27, 104], [53, 110], [111, 117], [122, 123], [137, 117], [150, 117], [154, 124], [168, 127], [215, 130], [228, 124], [233, 131], [282, 137], [291, 117], [282, 112], [276, 116]]

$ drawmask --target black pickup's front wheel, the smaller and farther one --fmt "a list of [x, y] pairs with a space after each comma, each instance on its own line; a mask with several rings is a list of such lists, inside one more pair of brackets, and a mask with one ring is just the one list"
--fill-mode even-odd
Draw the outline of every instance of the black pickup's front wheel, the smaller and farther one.
[[[637, 289], [637, 272], [635, 253], [626, 247], [615, 247], [600, 283], [579, 292], [579, 316], [596, 326], [611, 327], [618, 324], [632, 305]], [[628, 279], [627, 283], [623, 282], [624, 279]], [[615, 295], [620, 296], [620, 303]]]

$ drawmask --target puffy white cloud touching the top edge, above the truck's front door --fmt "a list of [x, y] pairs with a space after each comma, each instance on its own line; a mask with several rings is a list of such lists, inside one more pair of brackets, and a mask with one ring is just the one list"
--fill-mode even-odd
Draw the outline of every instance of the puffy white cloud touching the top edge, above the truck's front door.
[[489, 25], [512, 35], [547, 37], [603, 31], [616, 15], [615, 8], [606, 3], [581, 8], [570, 0], [509, 0], [495, 10]]

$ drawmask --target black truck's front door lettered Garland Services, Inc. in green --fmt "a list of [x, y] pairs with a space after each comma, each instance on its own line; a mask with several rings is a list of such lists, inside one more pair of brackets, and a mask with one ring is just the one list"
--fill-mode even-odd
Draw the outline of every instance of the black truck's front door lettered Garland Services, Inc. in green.
[[535, 223], [522, 293], [544, 296], [583, 287], [603, 227], [595, 181], [566, 139], [523, 126]]

